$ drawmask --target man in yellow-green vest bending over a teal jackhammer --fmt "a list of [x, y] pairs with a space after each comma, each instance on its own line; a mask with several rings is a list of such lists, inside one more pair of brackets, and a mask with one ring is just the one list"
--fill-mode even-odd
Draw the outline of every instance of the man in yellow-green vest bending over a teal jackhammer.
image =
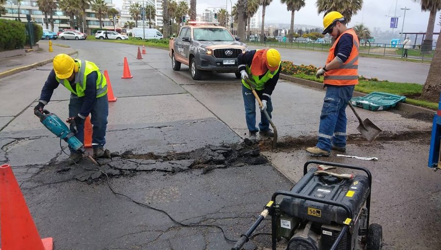
[[[74, 60], [67, 54], [58, 54], [53, 58], [53, 70], [41, 90], [40, 100], [34, 110], [43, 112], [43, 108], [52, 97], [53, 90], [58, 85], [64, 85], [71, 91], [69, 102], [69, 118], [71, 131], [84, 144], [84, 122], [89, 113], [93, 125], [92, 146], [94, 158], [104, 155], [106, 143], [106, 127], [109, 106], [107, 102], [106, 78], [99, 71], [97, 65], [85, 60]], [[75, 127], [76, 125], [76, 127]], [[75, 132], [76, 130], [76, 132]], [[83, 155], [71, 149], [71, 158], [76, 163]]]

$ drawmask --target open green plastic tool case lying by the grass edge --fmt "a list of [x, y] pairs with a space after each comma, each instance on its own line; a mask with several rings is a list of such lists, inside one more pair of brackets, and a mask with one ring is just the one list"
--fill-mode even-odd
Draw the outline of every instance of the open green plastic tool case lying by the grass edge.
[[392, 108], [396, 106], [398, 102], [404, 102], [405, 100], [405, 96], [397, 96], [383, 92], [372, 92], [364, 97], [352, 98], [351, 103], [352, 106], [377, 111]]

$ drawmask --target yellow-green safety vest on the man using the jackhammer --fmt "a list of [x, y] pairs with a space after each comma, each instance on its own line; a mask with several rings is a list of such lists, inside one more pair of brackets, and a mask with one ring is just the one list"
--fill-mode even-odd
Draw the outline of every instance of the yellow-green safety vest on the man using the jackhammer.
[[84, 97], [84, 90], [86, 89], [86, 78], [87, 75], [90, 73], [96, 71], [98, 74], [97, 78], [97, 98], [102, 97], [105, 94], [107, 94], [107, 81], [106, 77], [104, 77], [103, 74], [99, 71], [99, 68], [95, 63], [81, 60], [76, 61], [75, 63], [78, 63], [79, 66], [79, 72], [75, 74], [75, 90], [73, 90], [71, 83], [68, 79], [60, 79], [55, 76], [56, 80], [63, 84], [69, 91], [71, 91], [73, 94], [77, 95], [78, 97]]

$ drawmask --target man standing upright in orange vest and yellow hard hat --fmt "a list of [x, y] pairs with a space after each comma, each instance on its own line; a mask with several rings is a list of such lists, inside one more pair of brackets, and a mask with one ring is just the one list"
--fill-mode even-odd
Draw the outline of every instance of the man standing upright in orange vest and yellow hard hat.
[[306, 150], [313, 156], [330, 156], [331, 149], [346, 151], [347, 102], [358, 84], [357, 34], [346, 27], [341, 13], [331, 11], [323, 18], [323, 33], [335, 40], [329, 50], [326, 65], [317, 71], [317, 78], [324, 75], [326, 94], [320, 115], [319, 142]]

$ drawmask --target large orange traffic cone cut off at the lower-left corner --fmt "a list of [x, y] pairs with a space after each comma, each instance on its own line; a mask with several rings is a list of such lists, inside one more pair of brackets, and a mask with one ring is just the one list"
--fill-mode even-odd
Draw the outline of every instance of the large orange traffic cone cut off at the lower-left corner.
[[41, 239], [11, 166], [0, 166], [1, 246], [8, 249], [52, 250], [53, 239]]

